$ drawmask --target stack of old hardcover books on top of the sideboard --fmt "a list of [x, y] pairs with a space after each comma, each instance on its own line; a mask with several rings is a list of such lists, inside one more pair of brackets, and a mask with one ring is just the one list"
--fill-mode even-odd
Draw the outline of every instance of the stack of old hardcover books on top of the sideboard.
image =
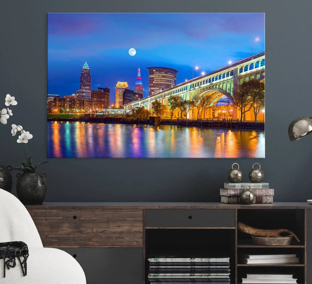
[[267, 182], [259, 182], [259, 183], [225, 182], [224, 188], [220, 188], [221, 202], [228, 204], [241, 203], [239, 196], [241, 192], [244, 190], [245, 185], [250, 185], [251, 191], [255, 194], [255, 200], [253, 203], [257, 204], [273, 203], [274, 189], [269, 188], [269, 184]]

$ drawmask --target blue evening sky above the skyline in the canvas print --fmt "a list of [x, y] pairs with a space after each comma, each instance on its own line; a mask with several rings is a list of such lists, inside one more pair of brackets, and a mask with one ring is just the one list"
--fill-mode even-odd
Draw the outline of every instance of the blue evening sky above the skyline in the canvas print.
[[111, 104], [117, 81], [134, 89], [138, 65], [145, 90], [151, 66], [178, 70], [179, 84], [195, 66], [194, 77], [250, 56], [253, 38], [254, 54], [265, 50], [264, 25], [264, 13], [49, 13], [48, 94], [76, 93], [85, 61]]

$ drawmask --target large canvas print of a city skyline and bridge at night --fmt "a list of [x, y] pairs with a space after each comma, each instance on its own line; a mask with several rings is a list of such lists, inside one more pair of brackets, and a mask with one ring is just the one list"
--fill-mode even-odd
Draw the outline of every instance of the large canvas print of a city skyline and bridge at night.
[[48, 13], [49, 158], [264, 158], [264, 13]]

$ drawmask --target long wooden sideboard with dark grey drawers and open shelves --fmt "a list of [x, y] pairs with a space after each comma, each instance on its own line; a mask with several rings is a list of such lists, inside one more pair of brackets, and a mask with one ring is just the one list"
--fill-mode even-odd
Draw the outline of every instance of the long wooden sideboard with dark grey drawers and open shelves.
[[[86, 202], [27, 205], [45, 247], [70, 253], [88, 284], [142, 284], [151, 251], [223, 247], [231, 259], [231, 283], [250, 269], [276, 270], [312, 284], [312, 205], [307, 203], [222, 204], [217, 202]], [[237, 230], [237, 222], [294, 231], [300, 243], [257, 246]], [[298, 264], [248, 265], [238, 253], [296, 253]]]

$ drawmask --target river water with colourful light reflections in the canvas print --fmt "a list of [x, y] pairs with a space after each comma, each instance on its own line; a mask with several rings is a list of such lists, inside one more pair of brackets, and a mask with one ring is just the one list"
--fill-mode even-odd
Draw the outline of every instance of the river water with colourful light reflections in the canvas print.
[[264, 157], [264, 131], [48, 122], [48, 158]]

